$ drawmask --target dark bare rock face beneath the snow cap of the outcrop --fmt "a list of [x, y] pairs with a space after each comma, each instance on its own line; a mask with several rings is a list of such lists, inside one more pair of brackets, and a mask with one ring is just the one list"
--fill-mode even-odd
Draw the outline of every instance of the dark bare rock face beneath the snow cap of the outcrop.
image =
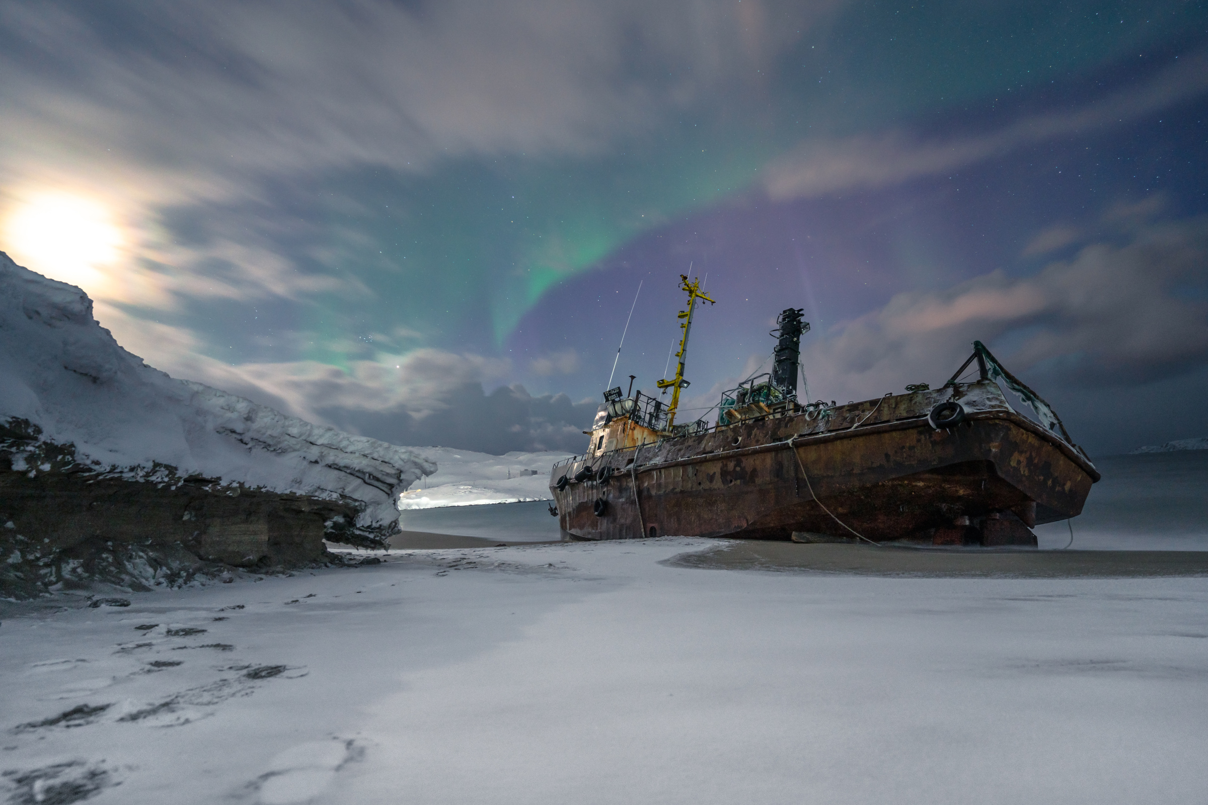
[[325, 538], [381, 546], [397, 529], [358, 527], [365, 504], [352, 498], [181, 478], [168, 467], [146, 480], [98, 472], [72, 445], [36, 436], [21, 420], [0, 426], [0, 597], [314, 565], [330, 558]]

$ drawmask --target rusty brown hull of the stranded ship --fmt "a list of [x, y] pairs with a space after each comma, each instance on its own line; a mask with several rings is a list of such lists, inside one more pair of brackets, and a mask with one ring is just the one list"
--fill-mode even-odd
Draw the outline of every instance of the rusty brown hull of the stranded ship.
[[[946, 401], [962, 421], [936, 427]], [[1030, 526], [1076, 517], [1099, 478], [986, 379], [645, 443], [633, 430], [553, 467], [567, 538], [1034, 546]]]

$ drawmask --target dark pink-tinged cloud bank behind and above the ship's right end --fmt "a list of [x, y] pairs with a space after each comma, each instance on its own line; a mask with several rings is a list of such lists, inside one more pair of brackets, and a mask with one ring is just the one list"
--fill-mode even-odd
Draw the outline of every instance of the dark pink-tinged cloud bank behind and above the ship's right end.
[[809, 343], [802, 360], [827, 398], [942, 383], [975, 339], [1017, 374], [1059, 372], [1097, 389], [1150, 383], [1208, 362], [1206, 266], [1208, 217], [1152, 223], [1032, 276], [993, 272], [900, 293]]

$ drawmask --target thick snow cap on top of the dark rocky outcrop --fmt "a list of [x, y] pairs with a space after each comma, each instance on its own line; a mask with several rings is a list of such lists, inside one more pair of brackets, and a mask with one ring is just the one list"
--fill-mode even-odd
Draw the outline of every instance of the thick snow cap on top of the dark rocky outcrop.
[[[134, 480], [201, 476], [275, 492], [365, 503], [358, 526], [397, 518], [395, 501], [436, 466], [416, 451], [286, 416], [175, 380], [122, 349], [80, 288], [0, 252], [0, 422], [74, 444], [76, 461]], [[14, 468], [35, 473], [18, 455]]]

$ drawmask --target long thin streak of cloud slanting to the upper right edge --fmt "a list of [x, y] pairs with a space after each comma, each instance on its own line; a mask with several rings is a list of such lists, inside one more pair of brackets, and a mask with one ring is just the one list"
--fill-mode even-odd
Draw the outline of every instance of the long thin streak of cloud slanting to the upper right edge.
[[1208, 53], [1178, 59], [1152, 78], [1070, 111], [1030, 115], [997, 132], [923, 139], [906, 130], [802, 144], [765, 170], [776, 200], [818, 198], [942, 175], [1055, 138], [1114, 126], [1208, 92]]

